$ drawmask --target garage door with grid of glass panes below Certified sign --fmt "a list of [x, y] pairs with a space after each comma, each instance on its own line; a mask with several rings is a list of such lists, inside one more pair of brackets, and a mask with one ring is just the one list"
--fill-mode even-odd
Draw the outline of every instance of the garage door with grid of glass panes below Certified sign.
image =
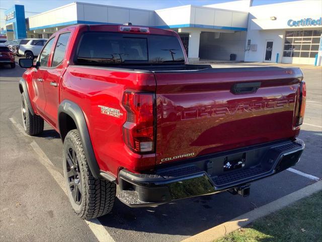
[[321, 33], [321, 30], [286, 31], [283, 51], [284, 61], [297, 64], [314, 63]]

